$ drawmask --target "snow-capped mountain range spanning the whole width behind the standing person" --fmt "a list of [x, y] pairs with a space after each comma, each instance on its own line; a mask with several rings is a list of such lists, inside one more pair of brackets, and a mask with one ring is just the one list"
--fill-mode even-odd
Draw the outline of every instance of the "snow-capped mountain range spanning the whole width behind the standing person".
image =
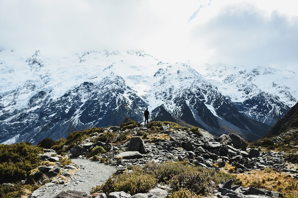
[[[268, 109], [279, 119], [297, 98], [296, 84], [275, 81], [276, 75], [272, 75], [272, 89], [255, 84], [257, 88], [249, 92], [246, 87], [252, 83], [239, 84], [247, 79], [241, 80], [244, 75], [238, 71], [229, 84], [215, 70], [208, 75], [199, 66], [163, 63], [144, 52], [94, 51], [49, 57], [39, 51], [28, 56], [1, 50], [0, 68], [0, 143], [36, 144], [45, 137], [56, 140], [75, 130], [118, 125], [126, 117], [143, 122], [145, 107], [151, 110], [152, 120], [257, 139], [269, 131], [268, 124], [274, 124], [273, 119], [268, 121]], [[204, 71], [211, 73], [211, 69], [215, 68]], [[237, 87], [236, 94], [227, 92], [225, 86]], [[236, 99], [239, 93], [242, 98]], [[261, 97], [254, 98], [258, 94], [263, 96], [261, 102]]]

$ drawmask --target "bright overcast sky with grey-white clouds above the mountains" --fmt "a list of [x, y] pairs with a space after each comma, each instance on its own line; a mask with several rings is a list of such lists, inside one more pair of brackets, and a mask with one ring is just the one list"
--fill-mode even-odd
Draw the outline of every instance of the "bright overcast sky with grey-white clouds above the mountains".
[[298, 11], [293, 0], [0, 0], [0, 48], [144, 50], [298, 72]]

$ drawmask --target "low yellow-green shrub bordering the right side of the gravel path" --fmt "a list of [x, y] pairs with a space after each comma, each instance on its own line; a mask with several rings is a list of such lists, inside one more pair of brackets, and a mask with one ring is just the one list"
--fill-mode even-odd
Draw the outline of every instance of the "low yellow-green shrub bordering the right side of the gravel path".
[[90, 194], [102, 190], [105, 194], [114, 191], [124, 191], [130, 194], [146, 193], [156, 186], [153, 175], [146, 173], [131, 173], [110, 176], [101, 186], [93, 187]]

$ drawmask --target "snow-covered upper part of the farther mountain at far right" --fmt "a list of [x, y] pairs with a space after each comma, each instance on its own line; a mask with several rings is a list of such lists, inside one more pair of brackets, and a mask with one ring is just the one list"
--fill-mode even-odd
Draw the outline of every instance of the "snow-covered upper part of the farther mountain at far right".
[[201, 64], [194, 68], [203, 71], [203, 77], [234, 102], [243, 102], [260, 91], [279, 97], [280, 101], [290, 107], [296, 104], [298, 99], [298, 78], [296, 73], [290, 70], [263, 66], [245, 69], [242, 65], [224, 63]]

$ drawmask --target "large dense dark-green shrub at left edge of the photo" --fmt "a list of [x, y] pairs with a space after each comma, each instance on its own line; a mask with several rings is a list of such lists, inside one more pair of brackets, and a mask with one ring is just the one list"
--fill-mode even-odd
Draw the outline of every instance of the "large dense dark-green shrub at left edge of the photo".
[[0, 183], [12, 183], [24, 180], [29, 171], [41, 162], [38, 153], [42, 149], [29, 142], [0, 145]]

